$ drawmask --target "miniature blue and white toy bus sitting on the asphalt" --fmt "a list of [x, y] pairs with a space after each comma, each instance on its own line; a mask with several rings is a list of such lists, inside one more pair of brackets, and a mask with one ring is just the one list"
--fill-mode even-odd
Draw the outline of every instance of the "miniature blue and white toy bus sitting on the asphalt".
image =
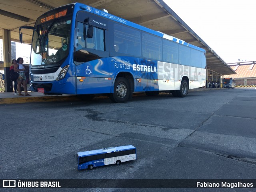
[[117, 164], [136, 160], [136, 147], [132, 145], [108, 147], [76, 154], [78, 170], [93, 169], [94, 167]]

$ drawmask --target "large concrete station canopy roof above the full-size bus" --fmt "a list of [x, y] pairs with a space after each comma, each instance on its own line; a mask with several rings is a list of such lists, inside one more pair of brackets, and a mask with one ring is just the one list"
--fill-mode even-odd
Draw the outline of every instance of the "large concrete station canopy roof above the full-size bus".
[[[11, 40], [19, 41], [20, 26], [34, 26], [36, 18], [50, 9], [80, 2], [163, 32], [206, 50], [208, 70], [219, 75], [236, 74], [169, 6], [162, 0], [0, 0], [0, 38], [10, 30]], [[32, 30], [22, 29], [23, 43], [31, 44]], [[227, 48], [228, 50], [228, 48]]]

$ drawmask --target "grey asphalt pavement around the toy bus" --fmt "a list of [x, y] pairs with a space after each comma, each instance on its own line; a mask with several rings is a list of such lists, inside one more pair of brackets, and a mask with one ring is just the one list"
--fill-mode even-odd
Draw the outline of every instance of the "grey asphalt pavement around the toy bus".
[[[120, 104], [106, 97], [31, 95], [10, 93], [16, 101], [28, 98], [23, 103], [0, 101], [0, 179], [256, 179], [255, 88], [200, 88], [185, 98], [134, 94]], [[77, 170], [77, 152], [128, 144], [137, 148], [136, 160]], [[116, 186], [4, 191], [255, 191]]]

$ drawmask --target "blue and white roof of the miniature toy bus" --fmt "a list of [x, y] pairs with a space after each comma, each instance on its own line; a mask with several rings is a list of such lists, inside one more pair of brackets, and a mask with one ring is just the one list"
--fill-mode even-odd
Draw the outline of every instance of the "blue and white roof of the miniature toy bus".
[[136, 147], [132, 145], [126, 145], [126, 146], [120, 146], [120, 147], [108, 147], [108, 148], [103, 148], [98, 150], [78, 152], [77, 154], [80, 157], [84, 157], [84, 156], [89, 156], [94, 154], [111, 153], [111, 152], [118, 152], [118, 151], [131, 150], [131, 149], [136, 149]]

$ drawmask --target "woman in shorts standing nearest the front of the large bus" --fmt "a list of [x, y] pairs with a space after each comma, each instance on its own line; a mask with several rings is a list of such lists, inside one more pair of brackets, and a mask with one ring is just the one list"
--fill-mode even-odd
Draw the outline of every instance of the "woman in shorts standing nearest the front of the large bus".
[[17, 71], [19, 73], [19, 77], [17, 79], [17, 81], [18, 81], [17, 89], [19, 92], [18, 96], [24, 96], [20, 91], [21, 83], [24, 88], [25, 96], [30, 96], [30, 94], [28, 94], [28, 90], [27, 90], [27, 79], [26, 79], [26, 75], [25, 75], [26, 69], [24, 68], [24, 66], [22, 64], [23, 64], [23, 59], [21, 57], [19, 57], [17, 59], [17, 63], [14, 64], [14, 71]]

